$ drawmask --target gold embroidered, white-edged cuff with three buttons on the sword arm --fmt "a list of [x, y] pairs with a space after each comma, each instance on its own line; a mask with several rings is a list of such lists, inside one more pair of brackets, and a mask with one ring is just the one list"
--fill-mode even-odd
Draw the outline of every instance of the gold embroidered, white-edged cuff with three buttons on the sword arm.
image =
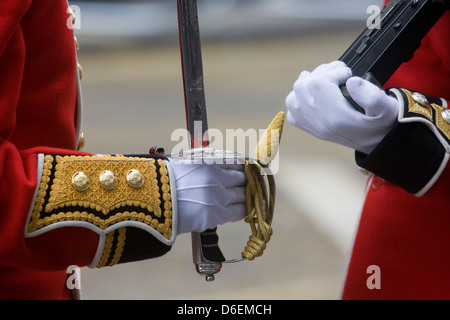
[[[85, 227], [103, 237], [103, 256], [107, 256], [108, 239], [119, 234], [114, 241], [116, 258], [108, 265], [120, 260], [125, 233], [132, 229], [150, 234], [164, 245], [173, 244], [176, 228], [168, 163], [163, 159], [121, 155], [39, 157], [42, 174], [26, 236], [60, 227]], [[106, 265], [105, 259], [97, 260]]]

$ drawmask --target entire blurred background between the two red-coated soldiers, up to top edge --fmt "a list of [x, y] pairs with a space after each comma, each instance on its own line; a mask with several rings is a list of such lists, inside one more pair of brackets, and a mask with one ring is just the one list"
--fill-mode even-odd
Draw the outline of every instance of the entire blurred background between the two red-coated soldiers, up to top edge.
[[[175, 0], [71, 1], [79, 8], [85, 151], [170, 151], [185, 128]], [[265, 129], [302, 70], [339, 59], [381, 0], [198, 0], [210, 128]], [[274, 235], [253, 262], [196, 274], [190, 235], [167, 255], [82, 269], [84, 299], [338, 299], [367, 176], [353, 152], [289, 123], [280, 147]], [[219, 228], [227, 258], [244, 222]]]

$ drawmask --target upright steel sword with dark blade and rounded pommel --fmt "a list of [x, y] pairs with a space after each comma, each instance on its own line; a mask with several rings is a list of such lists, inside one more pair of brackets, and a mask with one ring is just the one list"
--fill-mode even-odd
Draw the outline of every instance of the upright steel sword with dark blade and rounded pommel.
[[[202, 54], [196, 0], [177, 0], [186, 123], [191, 149], [209, 145]], [[217, 228], [193, 232], [192, 258], [197, 272], [213, 281], [225, 257], [219, 248]]]

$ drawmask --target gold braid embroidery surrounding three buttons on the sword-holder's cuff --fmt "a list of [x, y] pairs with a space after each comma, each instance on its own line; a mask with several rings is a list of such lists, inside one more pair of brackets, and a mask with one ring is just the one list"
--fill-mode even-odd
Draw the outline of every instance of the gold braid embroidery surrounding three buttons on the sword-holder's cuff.
[[[126, 181], [131, 169], [139, 170], [145, 177], [139, 188]], [[114, 172], [117, 178], [113, 189], [105, 189], [99, 182], [99, 175], [105, 170]], [[72, 176], [80, 171], [89, 178], [85, 191], [72, 185]], [[44, 157], [29, 233], [63, 221], [85, 221], [104, 230], [127, 220], [144, 223], [165, 238], [172, 238], [170, 184], [163, 160], [121, 155]]]

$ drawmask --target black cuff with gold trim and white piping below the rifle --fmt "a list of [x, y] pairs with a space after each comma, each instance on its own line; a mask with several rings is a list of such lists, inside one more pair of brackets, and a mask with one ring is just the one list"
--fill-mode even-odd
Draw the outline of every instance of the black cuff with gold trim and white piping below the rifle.
[[445, 100], [391, 88], [398, 122], [370, 154], [356, 152], [359, 167], [414, 194], [426, 194], [450, 159], [450, 123]]

